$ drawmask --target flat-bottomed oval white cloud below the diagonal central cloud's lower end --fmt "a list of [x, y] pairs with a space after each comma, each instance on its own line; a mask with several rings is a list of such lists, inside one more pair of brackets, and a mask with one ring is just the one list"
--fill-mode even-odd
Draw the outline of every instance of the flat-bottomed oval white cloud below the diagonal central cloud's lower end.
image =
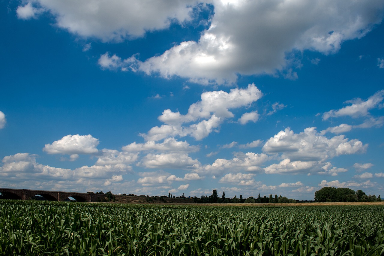
[[187, 154], [179, 153], [162, 153], [148, 154], [144, 156], [139, 163], [146, 168], [198, 168], [200, 162], [197, 159], [192, 159]]

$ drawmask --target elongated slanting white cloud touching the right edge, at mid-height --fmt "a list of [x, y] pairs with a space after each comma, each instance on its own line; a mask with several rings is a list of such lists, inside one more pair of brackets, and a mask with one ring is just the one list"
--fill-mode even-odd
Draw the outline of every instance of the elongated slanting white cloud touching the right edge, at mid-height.
[[325, 112], [323, 114], [323, 120], [327, 120], [330, 117], [339, 116], [351, 116], [353, 118], [360, 116], [368, 117], [368, 110], [371, 110], [372, 108], [378, 108], [384, 99], [383, 96], [384, 90], [381, 90], [370, 96], [366, 101], [363, 101], [360, 98], [348, 100], [345, 103], [351, 103], [351, 105], [345, 106], [339, 110], [329, 110], [328, 112]]

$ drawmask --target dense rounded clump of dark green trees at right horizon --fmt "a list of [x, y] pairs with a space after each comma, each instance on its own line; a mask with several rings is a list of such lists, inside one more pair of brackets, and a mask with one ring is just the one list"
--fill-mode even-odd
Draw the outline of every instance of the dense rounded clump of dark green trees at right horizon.
[[374, 202], [381, 201], [380, 195], [366, 195], [364, 191], [350, 188], [324, 187], [314, 193], [315, 202]]

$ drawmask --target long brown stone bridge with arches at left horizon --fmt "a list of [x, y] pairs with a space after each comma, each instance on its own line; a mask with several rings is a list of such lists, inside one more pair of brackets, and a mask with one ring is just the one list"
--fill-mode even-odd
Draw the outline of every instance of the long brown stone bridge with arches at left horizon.
[[4, 199], [29, 200], [33, 196], [40, 195], [48, 201], [65, 201], [67, 198], [72, 197], [78, 202], [100, 202], [106, 196], [105, 194], [46, 190], [20, 190], [12, 188], [0, 188], [0, 193]]

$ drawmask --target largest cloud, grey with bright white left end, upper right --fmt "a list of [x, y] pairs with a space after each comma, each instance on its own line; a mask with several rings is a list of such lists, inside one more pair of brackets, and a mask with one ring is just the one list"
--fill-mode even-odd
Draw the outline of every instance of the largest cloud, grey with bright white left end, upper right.
[[380, 0], [214, 0], [213, 4], [210, 27], [197, 42], [181, 42], [159, 56], [135, 60], [137, 69], [201, 84], [234, 83], [237, 74], [280, 72], [287, 79], [297, 79], [287, 53], [338, 52], [344, 41], [361, 38], [380, 23], [384, 6]]

